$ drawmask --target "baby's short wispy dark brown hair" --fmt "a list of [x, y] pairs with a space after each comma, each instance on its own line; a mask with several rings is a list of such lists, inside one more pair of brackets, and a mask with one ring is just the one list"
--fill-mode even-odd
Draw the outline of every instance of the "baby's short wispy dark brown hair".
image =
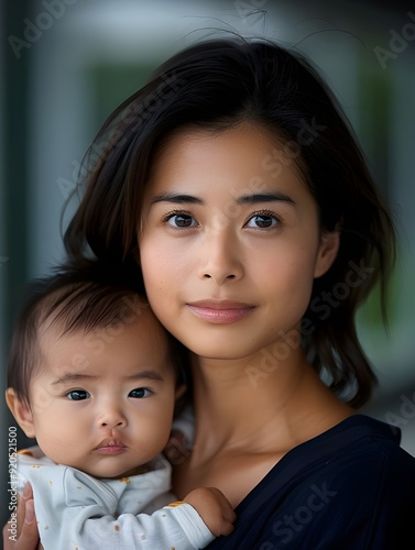
[[[8, 387], [13, 388], [28, 406], [31, 378], [42, 364], [40, 339], [43, 329], [53, 326], [59, 336], [65, 336], [78, 330], [89, 333], [116, 324], [120, 328], [150, 308], [131, 276], [95, 262], [84, 263], [81, 267], [62, 266], [53, 275], [30, 283], [28, 290], [29, 298], [12, 337], [7, 381]], [[159, 321], [154, 318], [152, 322]], [[162, 330], [179, 386], [186, 382], [187, 351], [172, 334]]]

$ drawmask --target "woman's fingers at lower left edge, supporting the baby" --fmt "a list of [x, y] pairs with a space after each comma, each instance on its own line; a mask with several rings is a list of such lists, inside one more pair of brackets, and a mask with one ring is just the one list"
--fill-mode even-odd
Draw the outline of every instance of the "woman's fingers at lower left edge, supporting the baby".
[[12, 517], [3, 527], [4, 550], [40, 550], [37, 521], [34, 514], [33, 492], [25, 484], [23, 497], [19, 498], [17, 517]]

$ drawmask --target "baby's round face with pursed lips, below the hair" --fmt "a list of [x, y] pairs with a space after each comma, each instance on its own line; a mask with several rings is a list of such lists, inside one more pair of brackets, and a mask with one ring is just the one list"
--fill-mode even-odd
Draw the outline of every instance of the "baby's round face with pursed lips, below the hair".
[[41, 339], [30, 388], [34, 433], [53, 461], [96, 477], [140, 471], [170, 436], [175, 374], [149, 307], [117, 326]]

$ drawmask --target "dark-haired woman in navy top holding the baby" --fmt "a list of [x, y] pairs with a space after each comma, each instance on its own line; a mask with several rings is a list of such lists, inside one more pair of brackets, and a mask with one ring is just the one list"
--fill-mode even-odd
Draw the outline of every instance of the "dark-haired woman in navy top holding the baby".
[[394, 232], [308, 62], [265, 41], [190, 46], [86, 161], [69, 261], [142, 275], [192, 352], [195, 441], [173, 488], [216, 486], [238, 517], [209, 548], [401, 548], [415, 459], [357, 414], [375, 376], [354, 323], [378, 280], [384, 296]]

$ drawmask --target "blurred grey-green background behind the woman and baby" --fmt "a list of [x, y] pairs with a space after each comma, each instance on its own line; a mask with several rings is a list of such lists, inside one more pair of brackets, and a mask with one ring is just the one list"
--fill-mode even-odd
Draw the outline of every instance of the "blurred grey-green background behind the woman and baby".
[[[371, 302], [359, 326], [380, 378], [368, 413], [398, 425], [403, 447], [415, 454], [415, 7], [345, 0], [3, 0], [0, 10], [2, 372], [22, 286], [62, 257], [63, 207], [106, 116], [174, 51], [215, 29], [236, 29], [294, 46], [321, 67], [395, 213], [400, 257], [390, 331]], [[4, 375], [1, 381], [3, 391]], [[13, 422], [2, 402], [0, 407], [6, 449]], [[20, 444], [25, 444], [21, 435]], [[6, 451], [0, 468], [4, 495]], [[0, 501], [3, 522], [6, 501]]]

